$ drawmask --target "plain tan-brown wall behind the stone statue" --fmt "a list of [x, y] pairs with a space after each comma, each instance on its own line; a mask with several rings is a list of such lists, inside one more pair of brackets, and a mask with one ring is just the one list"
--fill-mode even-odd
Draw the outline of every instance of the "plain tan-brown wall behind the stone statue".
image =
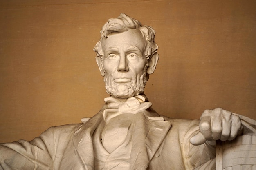
[[104, 104], [94, 45], [126, 13], [157, 31], [153, 108], [199, 119], [222, 107], [256, 119], [255, 0], [2, 0], [0, 142], [80, 123]]

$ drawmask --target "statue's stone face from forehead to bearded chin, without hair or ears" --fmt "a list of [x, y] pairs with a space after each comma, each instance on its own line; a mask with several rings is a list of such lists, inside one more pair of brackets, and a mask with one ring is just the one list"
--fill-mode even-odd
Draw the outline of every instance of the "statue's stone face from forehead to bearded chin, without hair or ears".
[[114, 97], [132, 97], [144, 91], [146, 39], [137, 29], [111, 33], [102, 41], [106, 90]]

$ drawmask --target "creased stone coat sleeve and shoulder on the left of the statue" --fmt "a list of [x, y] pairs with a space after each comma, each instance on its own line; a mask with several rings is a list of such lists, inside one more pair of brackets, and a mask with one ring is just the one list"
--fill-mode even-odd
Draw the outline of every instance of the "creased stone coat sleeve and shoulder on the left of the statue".
[[54, 170], [76, 126], [53, 126], [32, 141], [0, 144], [0, 170]]

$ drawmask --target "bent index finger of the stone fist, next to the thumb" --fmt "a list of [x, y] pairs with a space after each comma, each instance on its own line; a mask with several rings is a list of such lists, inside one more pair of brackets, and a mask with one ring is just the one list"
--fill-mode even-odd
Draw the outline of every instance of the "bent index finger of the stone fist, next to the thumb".
[[204, 136], [205, 139], [211, 140], [211, 117], [210, 116], [202, 116], [200, 118], [199, 123], [200, 132]]

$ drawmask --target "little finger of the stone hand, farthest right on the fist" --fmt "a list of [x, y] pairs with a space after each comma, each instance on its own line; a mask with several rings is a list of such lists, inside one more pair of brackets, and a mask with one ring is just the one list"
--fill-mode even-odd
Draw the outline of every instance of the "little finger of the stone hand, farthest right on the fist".
[[243, 129], [241, 120], [238, 116], [232, 115], [231, 121], [231, 132], [228, 140], [233, 140], [237, 135], [240, 134], [240, 131]]

